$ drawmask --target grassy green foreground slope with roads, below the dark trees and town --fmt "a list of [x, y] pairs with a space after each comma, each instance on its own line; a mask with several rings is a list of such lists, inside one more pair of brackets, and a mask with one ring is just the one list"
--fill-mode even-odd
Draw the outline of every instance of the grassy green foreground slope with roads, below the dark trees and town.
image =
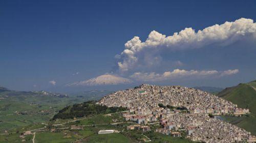
[[[93, 105], [92, 102], [84, 102], [83, 104]], [[95, 107], [101, 108], [97, 105]], [[117, 111], [116, 109], [113, 111]], [[69, 111], [67, 109], [65, 114], [69, 113]], [[24, 134], [3, 134], [0, 137], [0, 142], [33, 142], [33, 140], [34, 142], [141, 142], [148, 140], [148, 138], [151, 139], [151, 142], [193, 142], [188, 139], [170, 137], [169, 135], [163, 135], [154, 131], [127, 130], [127, 126], [139, 124], [125, 121], [120, 111], [111, 113], [112, 111], [108, 108], [105, 111], [108, 113], [102, 112], [98, 115], [92, 113], [82, 118], [51, 120], [44, 127], [38, 127], [36, 125], [29, 128], [25, 127], [20, 130]], [[159, 124], [148, 126], [152, 130], [160, 127]], [[33, 130], [31, 130], [32, 128]], [[120, 131], [120, 133], [98, 134], [98, 131], [102, 129], [114, 129]]]

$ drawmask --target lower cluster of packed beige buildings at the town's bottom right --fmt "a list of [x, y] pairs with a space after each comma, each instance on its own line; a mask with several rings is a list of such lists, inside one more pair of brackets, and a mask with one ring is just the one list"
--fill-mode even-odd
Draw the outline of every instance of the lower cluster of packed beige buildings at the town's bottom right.
[[175, 113], [165, 118], [165, 129], [187, 131], [187, 137], [204, 142], [247, 141], [250, 132], [221, 120], [210, 118], [207, 114]]

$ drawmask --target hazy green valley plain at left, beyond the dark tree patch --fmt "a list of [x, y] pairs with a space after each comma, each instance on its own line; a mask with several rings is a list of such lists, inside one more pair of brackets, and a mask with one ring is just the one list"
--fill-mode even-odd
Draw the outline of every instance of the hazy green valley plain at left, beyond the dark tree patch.
[[[63, 107], [99, 99], [106, 91], [67, 96], [49, 92], [20, 92], [0, 87], [0, 133], [16, 132], [32, 124], [46, 124]], [[99, 96], [97, 96], [99, 94]]]

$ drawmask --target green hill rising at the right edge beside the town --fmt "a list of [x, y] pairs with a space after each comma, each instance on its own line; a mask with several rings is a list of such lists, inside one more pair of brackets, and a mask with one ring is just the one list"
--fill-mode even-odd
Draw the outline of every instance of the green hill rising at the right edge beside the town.
[[252, 134], [256, 134], [256, 80], [240, 83], [235, 87], [226, 88], [217, 96], [222, 97], [242, 108], [249, 108], [251, 115], [245, 117], [223, 117], [223, 120], [240, 126]]

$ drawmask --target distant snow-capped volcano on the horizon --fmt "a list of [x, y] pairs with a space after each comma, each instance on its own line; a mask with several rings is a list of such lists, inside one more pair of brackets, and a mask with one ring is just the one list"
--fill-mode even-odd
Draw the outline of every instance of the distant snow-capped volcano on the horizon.
[[117, 85], [117, 84], [127, 84], [132, 83], [131, 79], [112, 75], [112, 74], [103, 74], [85, 81], [78, 81], [74, 83], [69, 83], [67, 86], [73, 85]]

